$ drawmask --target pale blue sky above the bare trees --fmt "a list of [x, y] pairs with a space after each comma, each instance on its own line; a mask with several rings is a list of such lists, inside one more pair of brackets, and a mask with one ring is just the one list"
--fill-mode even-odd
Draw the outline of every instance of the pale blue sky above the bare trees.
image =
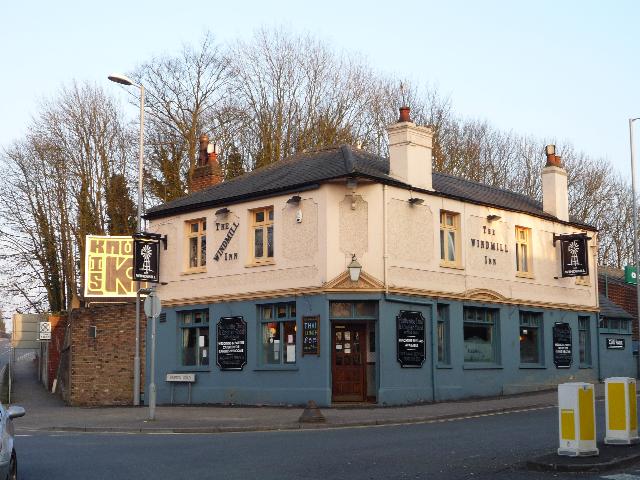
[[[121, 95], [109, 73], [177, 52], [207, 29], [228, 42], [284, 26], [436, 85], [463, 116], [570, 140], [629, 174], [627, 121], [640, 116], [638, 1], [7, 3], [0, 9], [3, 146], [24, 134], [39, 99], [73, 79]], [[123, 108], [135, 118], [133, 107]]]

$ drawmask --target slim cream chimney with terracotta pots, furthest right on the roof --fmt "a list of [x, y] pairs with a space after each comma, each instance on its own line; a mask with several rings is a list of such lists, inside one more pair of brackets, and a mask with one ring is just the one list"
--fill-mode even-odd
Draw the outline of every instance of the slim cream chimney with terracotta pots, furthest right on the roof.
[[542, 210], [558, 220], [569, 221], [569, 191], [567, 171], [556, 155], [556, 146], [545, 147], [547, 164], [542, 169]]

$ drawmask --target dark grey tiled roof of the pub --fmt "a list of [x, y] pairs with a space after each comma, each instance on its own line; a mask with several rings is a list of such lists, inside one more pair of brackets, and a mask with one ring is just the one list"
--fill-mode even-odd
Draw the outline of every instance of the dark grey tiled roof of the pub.
[[[181, 212], [227, 206], [251, 198], [302, 191], [327, 180], [349, 176], [410, 188], [410, 185], [389, 176], [388, 158], [342, 145], [295, 155], [213, 187], [158, 205], [149, 209], [146, 217], [166, 217]], [[433, 188], [436, 194], [442, 196], [530, 213], [557, 221], [555, 217], [542, 210], [540, 202], [501, 188], [443, 173], [433, 174]], [[413, 191], [420, 190], [414, 188]], [[575, 221], [572, 224], [594, 229]]]

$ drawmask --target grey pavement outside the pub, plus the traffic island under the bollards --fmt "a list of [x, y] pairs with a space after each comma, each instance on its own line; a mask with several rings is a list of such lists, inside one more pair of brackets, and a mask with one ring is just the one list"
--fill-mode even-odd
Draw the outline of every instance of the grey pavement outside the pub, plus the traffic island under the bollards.
[[[322, 423], [300, 422], [301, 407], [244, 406], [158, 406], [149, 420], [146, 406], [71, 407], [49, 393], [38, 382], [34, 361], [17, 362], [11, 403], [27, 414], [16, 420], [18, 433], [33, 431], [102, 433], [225, 433], [311, 428], [346, 428], [375, 425], [435, 423], [506, 412], [557, 407], [557, 391], [463, 401], [438, 402], [401, 407], [347, 405], [320, 409]], [[603, 385], [596, 385], [596, 397], [603, 398]], [[306, 412], [317, 414], [319, 412]], [[598, 457], [560, 457], [551, 451], [532, 458], [526, 468], [550, 471], [605, 471], [640, 461], [640, 444], [599, 445]]]

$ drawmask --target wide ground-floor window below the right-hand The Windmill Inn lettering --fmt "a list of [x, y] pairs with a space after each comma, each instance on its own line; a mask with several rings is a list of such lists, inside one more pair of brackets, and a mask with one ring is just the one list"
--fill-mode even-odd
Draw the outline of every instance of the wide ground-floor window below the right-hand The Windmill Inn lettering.
[[498, 363], [498, 310], [464, 308], [464, 361]]

